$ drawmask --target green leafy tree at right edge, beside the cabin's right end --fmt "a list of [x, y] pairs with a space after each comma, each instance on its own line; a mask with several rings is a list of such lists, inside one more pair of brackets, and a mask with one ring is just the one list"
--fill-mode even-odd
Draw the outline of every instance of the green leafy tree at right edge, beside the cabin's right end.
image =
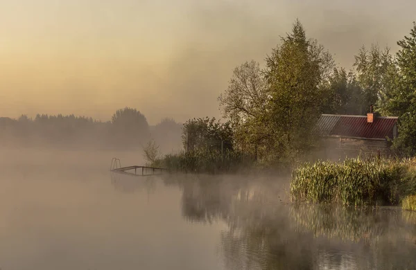
[[388, 95], [385, 111], [399, 116], [399, 136], [394, 147], [408, 156], [416, 154], [416, 23], [410, 36], [397, 42], [398, 76], [395, 88]]

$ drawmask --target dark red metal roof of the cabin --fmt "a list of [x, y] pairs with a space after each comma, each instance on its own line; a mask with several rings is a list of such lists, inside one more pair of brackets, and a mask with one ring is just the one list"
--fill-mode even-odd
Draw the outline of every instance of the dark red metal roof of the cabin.
[[339, 116], [322, 114], [318, 127], [322, 135], [361, 138], [393, 138], [397, 117], [375, 117], [367, 123], [367, 116]]

